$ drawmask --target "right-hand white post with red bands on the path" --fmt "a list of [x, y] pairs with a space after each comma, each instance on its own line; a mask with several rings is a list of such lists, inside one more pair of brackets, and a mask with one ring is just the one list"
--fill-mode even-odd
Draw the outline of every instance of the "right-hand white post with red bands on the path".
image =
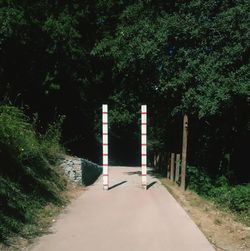
[[141, 176], [142, 187], [147, 189], [147, 106], [141, 106]]

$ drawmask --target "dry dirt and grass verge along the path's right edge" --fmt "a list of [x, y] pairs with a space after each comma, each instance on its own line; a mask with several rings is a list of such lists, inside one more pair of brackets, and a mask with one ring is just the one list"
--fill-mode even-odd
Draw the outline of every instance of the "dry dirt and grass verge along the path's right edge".
[[237, 222], [236, 217], [224, 212], [192, 191], [183, 192], [176, 184], [161, 179], [163, 185], [182, 205], [217, 251], [249, 251], [250, 227]]

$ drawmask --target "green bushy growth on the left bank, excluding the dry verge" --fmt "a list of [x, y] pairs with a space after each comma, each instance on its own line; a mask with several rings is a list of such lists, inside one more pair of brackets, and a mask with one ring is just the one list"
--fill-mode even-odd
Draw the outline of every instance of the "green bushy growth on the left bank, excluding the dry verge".
[[23, 111], [0, 106], [0, 240], [35, 224], [48, 203], [64, 203], [66, 180], [54, 167], [62, 153], [58, 126], [37, 135]]

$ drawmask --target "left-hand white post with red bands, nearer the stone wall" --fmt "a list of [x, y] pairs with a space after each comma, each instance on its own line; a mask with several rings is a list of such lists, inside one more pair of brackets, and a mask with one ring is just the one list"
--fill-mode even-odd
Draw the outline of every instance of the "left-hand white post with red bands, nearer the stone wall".
[[108, 105], [102, 105], [102, 177], [103, 189], [109, 189], [108, 166]]

